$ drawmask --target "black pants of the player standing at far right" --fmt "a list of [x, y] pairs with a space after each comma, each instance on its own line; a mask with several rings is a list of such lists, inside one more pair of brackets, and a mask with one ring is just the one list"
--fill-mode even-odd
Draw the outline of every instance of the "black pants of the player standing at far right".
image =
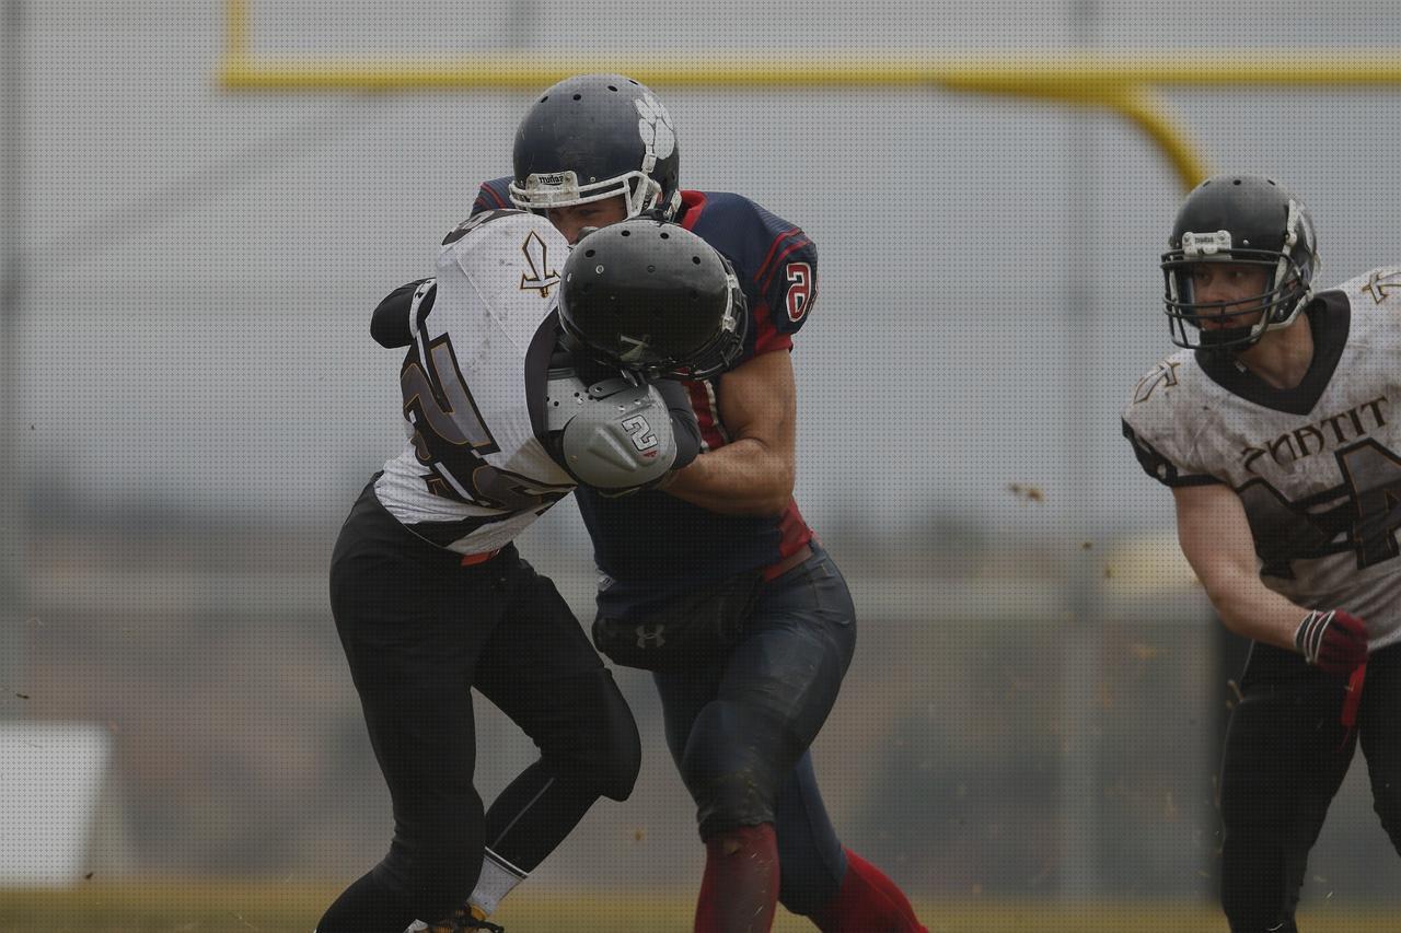
[[1373, 807], [1401, 852], [1401, 646], [1367, 663], [1356, 731], [1345, 682], [1254, 644], [1222, 763], [1222, 906], [1233, 933], [1296, 930], [1309, 850], [1360, 738]]

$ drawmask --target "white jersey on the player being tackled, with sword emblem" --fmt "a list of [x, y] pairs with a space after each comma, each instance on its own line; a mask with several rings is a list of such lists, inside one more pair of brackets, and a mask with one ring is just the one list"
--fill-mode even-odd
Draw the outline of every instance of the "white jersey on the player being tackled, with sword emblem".
[[544, 395], [525, 388], [545, 387], [567, 249], [537, 214], [476, 214], [448, 234], [436, 282], [413, 297], [399, 370], [409, 443], [374, 490], [433, 544], [504, 546], [574, 488], [537, 437], [531, 408]]

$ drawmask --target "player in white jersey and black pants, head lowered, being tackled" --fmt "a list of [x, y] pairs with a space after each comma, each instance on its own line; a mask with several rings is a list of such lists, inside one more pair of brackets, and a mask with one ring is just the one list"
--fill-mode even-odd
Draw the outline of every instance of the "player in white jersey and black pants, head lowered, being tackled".
[[[622, 496], [695, 458], [685, 389], [663, 377], [733, 360], [744, 297], [693, 234], [650, 219], [616, 233], [566, 262], [545, 219], [481, 213], [444, 240], [434, 279], [375, 310], [375, 339], [409, 347], [399, 368], [409, 440], [340, 530], [331, 605], [395, 828], [388, 855], [332, 904], [319, 933], [433, 922], [474, 884], [478, 909], [430, 929], [500, 929], [485, 920], [495, 892], [600, 796], [632, 792], [632, 713], [573, 612], [511, 541], [576, 485]], [[647, 328], [626, 352], [573, 336], [605, 333], [635, 307]], [[485, 815], [471, 688], [541, 749]]]

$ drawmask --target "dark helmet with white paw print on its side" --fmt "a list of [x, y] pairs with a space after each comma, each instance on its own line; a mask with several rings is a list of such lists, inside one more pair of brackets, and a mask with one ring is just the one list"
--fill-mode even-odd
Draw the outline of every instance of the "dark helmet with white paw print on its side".
[[579, 74], [551, 87], [516, 130], [511, 202], [569, 207], [623, 195], [628, 216], [681, 207], [681, 156], [671, 115], [622, 74]]

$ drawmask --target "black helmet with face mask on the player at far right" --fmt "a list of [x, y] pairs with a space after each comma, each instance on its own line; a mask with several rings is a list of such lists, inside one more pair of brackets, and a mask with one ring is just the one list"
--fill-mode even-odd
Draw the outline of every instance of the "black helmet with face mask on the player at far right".
[[[1318, 269], [1313, 220], [1274, 179], [1208, 178], [1187, 196], [1167, 245], [1161, 261], [1164, 304], [1178, 346], [1243, 350], [1267, 331], [1293, 324], [1313, 297], [1311, 282]], [[1248, 298], [1198, 301], [1192, 266], [1201, 262], [1259, 266], [1267, 272], [1265, 290]], [[1258, 321], [1233, 325], [1255, 314]], [[1227, 325], [1203, 329], [1203, 318]]]

